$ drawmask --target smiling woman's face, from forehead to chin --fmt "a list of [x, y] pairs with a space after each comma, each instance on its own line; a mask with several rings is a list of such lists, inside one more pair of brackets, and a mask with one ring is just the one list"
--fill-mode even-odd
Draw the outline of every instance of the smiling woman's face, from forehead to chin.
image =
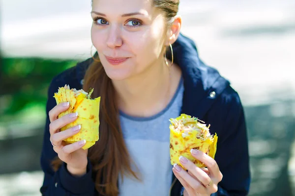
[[111, 79], [162, 65], [165, 19], [150, 0], [93, 0], [91, 17], [92, 44]]

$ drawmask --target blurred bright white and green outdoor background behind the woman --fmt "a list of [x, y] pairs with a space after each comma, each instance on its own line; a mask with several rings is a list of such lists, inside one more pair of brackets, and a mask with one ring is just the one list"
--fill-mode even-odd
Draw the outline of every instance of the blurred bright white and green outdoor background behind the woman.
[[[39, 196], [47, 89], [90, 57], [90, 0], [1, 0], [0, 9], [0, 196]], [[179, 14], [245, 107], [249, 195], [295, 196], [295, 0], [180, 0]]]

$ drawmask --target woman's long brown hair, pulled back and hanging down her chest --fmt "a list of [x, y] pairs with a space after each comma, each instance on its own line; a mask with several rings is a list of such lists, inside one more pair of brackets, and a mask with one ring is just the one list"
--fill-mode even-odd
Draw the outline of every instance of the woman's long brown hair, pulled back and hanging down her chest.
[[[166, 26], [170, 26], [178, 11], [179, 0], [151, 0], [153, 6], [165, 13]], [[88, 91], [94, 87], [92, 98], [101, 97], [99, 114], [99, 141], [89, 148], [88, 157], [92, 164], [92, 172], [96, 172], [95, 188], [104, 196], [118, 196], [119, 174], [126, 174], [139, 179], [138, 173], [132, 170], [130, 159], [121, 132], [116, 92], [111, 79], [107, 76], [98, 55], [89, 65], [84, 76], [83, 89]], [[55, 169], [60, 160], [54, 160]]]

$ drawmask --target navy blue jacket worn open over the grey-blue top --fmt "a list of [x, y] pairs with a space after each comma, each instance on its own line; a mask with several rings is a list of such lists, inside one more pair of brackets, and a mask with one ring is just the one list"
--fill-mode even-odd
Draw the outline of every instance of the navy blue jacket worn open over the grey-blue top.
[[[180, 34], [173, 44], [173, 50], [175, 62], [180, 66], [184, 78], [181, 113], [211, 124], [210, 132], [218, 135], [215, 160], [223, 179], [218, 184], [218, 192], [212, 196], [247, 195], [250, 186], [248, 141], [243, 107], [238, 94], [228, 80], [199, 59], [192, 40]], [[91, 172], [90, 163], [87, 173], [82, 177], [71, 176], [65, 164], [57, 172], [53, 172], [50, 166], [50, 162], [57, 156], [49, 141], [48, 112], [56, 105], [54, 93], [65, 84], [81, 89], [82, 79], [91, 62], [90, 58], [60, 73], [49, 86], [41, 154], [41, 167], [45, 173], [40, 189], [43, 196], [99, 196], [94, 188], [95, 174]], [[173, 184], [171, 196], [181, 196], [182, 192], [183, 187], [177, 180]]]

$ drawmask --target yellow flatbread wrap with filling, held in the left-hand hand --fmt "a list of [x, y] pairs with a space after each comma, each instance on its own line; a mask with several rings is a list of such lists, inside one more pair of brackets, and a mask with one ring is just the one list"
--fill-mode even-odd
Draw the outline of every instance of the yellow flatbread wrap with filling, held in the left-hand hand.
[[62, 127], [60, 131], [64, 131], [76, 125], [81, 125], [81, 130], [64, 140], [67, 143], [74, 143], [81, 140], [86, 140], [86, 144], [83, 149], [92, 147], [99, 139], [99, 104], [100, 97], [91, 99], [90, 96], [93, 89], [89, 90], [89, 93], [84, 90], [70, 89], [68, 85], [59, 87], [58, 93], [54, 94], [54, 98], [57, 104], [61, 102], [69, 102], [69, 109], [59, 114], [59, 118], [69, 114], [78, 112], [78, 118], [76, 121], [67, 124]]

